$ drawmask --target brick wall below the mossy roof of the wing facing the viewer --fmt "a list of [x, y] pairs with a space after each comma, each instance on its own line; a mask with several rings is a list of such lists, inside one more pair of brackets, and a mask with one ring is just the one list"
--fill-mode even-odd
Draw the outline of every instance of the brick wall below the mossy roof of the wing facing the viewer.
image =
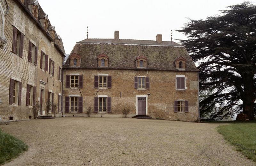
[[[66, 75], [83, 75], [83, 88], [65, 88]], [[94, 88], [94, 76], [108, 74], [112, 76], [110, 89]], [[186, 76], [186, 90], [176, 90], [176, 75]], [[150, 88], [134, 89], [134, 76], [148, 76]], [[123, 117], [124, 105], [129, 105], [136, 114], [136, 95], [148, 97], [148, 115], [153, 118], [197, 121], [198, 119], [198, 77], [197, 72], [186, 71], [142, 71], [118, 69], [64, 69], [63, 77], [63, 114], [66, 116], [87, 116], [86, 112], [92, 107], [92, 117]], [[83, 96], [83, 113], [65, 113], [65, 97], [68, 95]], [[111, 113], [93, 113], [94, 97], [108, 95], [111, 97]], [[189, 112], [174, 112], [174, 100], [188, 100]]]

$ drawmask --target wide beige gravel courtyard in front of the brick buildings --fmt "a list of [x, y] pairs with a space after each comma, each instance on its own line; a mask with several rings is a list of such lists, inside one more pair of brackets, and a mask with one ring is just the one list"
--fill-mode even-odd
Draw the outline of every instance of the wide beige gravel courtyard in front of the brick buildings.
[[251, 166], [219, 124], [125, 118], [37, 119], [0, 125], [29, 149], [4, 166]]

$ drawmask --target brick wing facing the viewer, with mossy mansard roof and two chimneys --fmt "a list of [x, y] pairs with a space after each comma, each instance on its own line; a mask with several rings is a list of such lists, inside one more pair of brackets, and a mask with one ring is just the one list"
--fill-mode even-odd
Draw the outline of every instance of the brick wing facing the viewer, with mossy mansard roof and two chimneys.
[[64, 64], [63, 114], [197, 121], [198, 69], [186, 48], [151, 40], [85, 39]]

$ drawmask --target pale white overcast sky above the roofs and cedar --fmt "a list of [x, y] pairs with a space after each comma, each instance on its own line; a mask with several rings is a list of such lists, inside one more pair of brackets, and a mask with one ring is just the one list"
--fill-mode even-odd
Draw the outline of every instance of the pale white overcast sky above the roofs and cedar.
[[[174, 30], [181, 29], [187, 18], [204, 19], [216, 15], [229, 5], [243, 0], [39, 0], [56, 32], [61, 36], [66, 54], [76, 42], [86, 38], [156, 40], [162, 34], [164, 41], [186, 39]], [[255, 0], [252, 1], [255, 4]]]

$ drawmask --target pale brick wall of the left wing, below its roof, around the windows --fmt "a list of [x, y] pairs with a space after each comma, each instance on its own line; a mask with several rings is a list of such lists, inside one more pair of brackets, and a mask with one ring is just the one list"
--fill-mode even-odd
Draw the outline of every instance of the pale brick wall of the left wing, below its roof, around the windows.
[[[59, 66], [62, 68], [63, 57], [45, 33], [36, 25], [25, 10], [15, 0], [7, 0], [10, 7], [8, 15], [5, 17], [4, 34], [7, 42], [0, 49], [0, 117], [2, 120], [28, 119], [33, 117], [32, 106], [26, 106], [27, 84], [36, 86], [36, 101], [40, 98], [40, 83], [46, 83], [44, 96], [46, 105], [47, 92], [54, 93], [54, 103], [58, 101], [58, 93], [61, 93], [62, 83], [58, 80]], [[15, 26], [24, 36], [23, 57], [12, 53], [13, 26]], [[32, 41], [38, 47], [37, 65], [28, 62], [28, 43]], [[49, 55], [55, 62], [54, 76], [40, 69], [41, 50]], [[10, 78], [22, 82], [21, 105], [9, 105], [9, 84]], [[60, 115], [60, 114], [59, 114]]]

